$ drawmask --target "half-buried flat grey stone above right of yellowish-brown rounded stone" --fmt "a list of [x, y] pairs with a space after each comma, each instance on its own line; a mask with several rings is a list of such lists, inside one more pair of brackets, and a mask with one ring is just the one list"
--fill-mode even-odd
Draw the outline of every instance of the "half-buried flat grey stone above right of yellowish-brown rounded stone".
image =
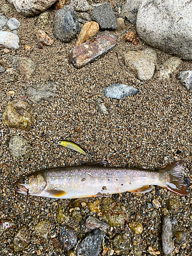
[[49, 99], [50, 97], [55, 96], [56, 92], [56, 83], [53, 81], [48, 81], [43, 84], [34, 84], [27, 89], [29, 99], [33, 103], [40, 103], [42, 100]]

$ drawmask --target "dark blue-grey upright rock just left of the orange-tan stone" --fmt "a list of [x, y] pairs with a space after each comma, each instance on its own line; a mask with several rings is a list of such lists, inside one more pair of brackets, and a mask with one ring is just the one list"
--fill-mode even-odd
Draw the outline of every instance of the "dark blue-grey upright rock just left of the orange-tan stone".
[[71, 41], [79, 31], [79, 23], [76, 22], [73, 13], [73, 6], [68, 5], [55, 14], [54, 36], [62, 42]]

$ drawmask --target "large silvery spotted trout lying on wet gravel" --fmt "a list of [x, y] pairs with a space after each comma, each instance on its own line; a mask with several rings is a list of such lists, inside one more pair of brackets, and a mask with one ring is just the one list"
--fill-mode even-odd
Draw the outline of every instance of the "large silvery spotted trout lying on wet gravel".
[[183, 172], [183, 160], [159, 170], [98, 165], [62, 166], [42, 169], [20, 178], [15, 183], [15, 190], [27, 196], [72, 199], [109, 196], [126, 191], [146, 193], [152, 190], [150, 185], [158, 185], [189, 196]]

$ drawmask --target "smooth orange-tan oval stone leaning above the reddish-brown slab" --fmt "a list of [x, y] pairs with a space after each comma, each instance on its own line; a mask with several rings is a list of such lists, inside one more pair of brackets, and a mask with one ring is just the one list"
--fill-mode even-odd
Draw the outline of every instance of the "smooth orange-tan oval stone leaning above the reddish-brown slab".
[[76, 42], [76, 46], [83, 44], [83, 42], [86, 42], [91, 37], [95, 36], [99, 31], [99, 24], [96, 22], [88, 22], [84, 24], [82, 27], [78, 40]]

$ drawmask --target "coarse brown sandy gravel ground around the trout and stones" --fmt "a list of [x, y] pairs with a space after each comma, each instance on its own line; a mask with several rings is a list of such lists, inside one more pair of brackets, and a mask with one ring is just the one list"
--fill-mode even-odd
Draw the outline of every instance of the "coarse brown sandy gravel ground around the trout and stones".
[[[91, 4], [94, 1], [88, 2]], [[115, 1], [109, 2], [115, 6]], [[7, 2], [1, 1], [0, 10], [3, 4]], [[53, 25], [56, 10], [50, 8], [48, 11], [50, 13], [49, 26], [45, 31], [51, 38], [54, 38]], [[122, 62], [125, 52], [148, 48], [141, 40], [139, 40], [138, 47], [132, 45], [131, 42], [125, 42], [122, 31], [99, 31], [99, 35], [108, 33], [115, 35], [117, 37], [116, 47], [94, 63], [77, 70], [68, 63], [69, 51], [76, 45], [76, 39], [69, 44], [63, 44], [54, 39], [51, 47], [42, 46], [36, 38], [35, 24], [38, 15], [24, 17], [13, 10], [6, 16], [15, 17], [21, 24], [17, 34], [20, 38], [19, 50], [11, 50], [9, 54], [4, 54], [0, 49], [1, 59], [4, 60], [6, 68], [12, 68], [8, 61], [10, 54], [31, 58], [36, 68], [29, 80], [23, 80], [16, 73], [15, 81], [7, 83], [5, 82], [6, 73], [1, 74], [0, 112], [3, 113], [11, 100], [24, 95], [25, 90], [35, 83], [55, 81], [58, 94], [41, 104], [32, 104], [26, 96], [26, 101], [32, 105], [36, 119], [36, 124], [30, 131], [10, 129], [0, 120], [0, 217], [13, 220], [17, 225], [17, 228], [3, 233], [0, 237], [0, 252], [1, 255], [65, 255], [63, 249], [61, 252], [60, 249], [54, 248], [51, 240], [38, 239], [33, 231], [39, 221], [49, 220], [51, 222], [50, 234], [54, 235], [60, 226], [56, 219], [57, 210], [58, 207], [62, 207], [69, 212], [70, 218], [66, 220], [66, 223], [76, 230], [80, 242], [85, 235], [80, 232], [79, 223], [71, 218], [70, 200], [54, 201], [29, 197], [26, 202], [26, 196], [15, 193], [13, 183], [18, 177], [41, 168], [76, 165], [81, 161], [96, 160], [108, 160], [112, 166], [144, 165], [147, 168], [159, 169], [168, 163], [184, 159], [186, 175], [190, 178], [192, 168], [191, 91], [187, 91], [181, 85], [176, 74], [164, 81], [158, 79], [157, 72], [160, 66], [171, 57], [159, 50], [156, 50], [158, 56], [156, 72], [150, 81], [141, 82], [129, 68], [120, 66], [116, 52]], [[128, 31], [136, 29], [127, 22], [126, 26]], [[32, 51], [24, 50], [25, 45], [30, 45]], [[192, 70], [191, 61], [183, 60], [178, 71], [188, 69]], [[139, 89], [139, 94], [122, 100], [105, 98], [103, 88], [111, 83], [133, 86]], [[11, 90], [15, 92], [14, 96], [8, 94]], [[97, 112], [95, 102], [98, 97], [103, 99], [109, 116], [106, 117]], [[79, 133], [74, 130], [76, 126], [81, 127]], [[13, 135], [23, 136], [31, 143], [30, 158], [17, 160], [11, 157], [8, 145]], [[75, 141], [89, 154], [84, 156], [65, 147], [52, 145], [62, 139]], [[180, 155], [176, 154], [178, 150], [181, 152]], [[157, 199], [161, 206], [166, 207], [166, 200], [170, 197], [178, 198], [182, 202], [181, 208], [168, 210], [170, 219], [175, 220], [177, 225], [187, 232], [185, 243], [175, 244], [175, 250], [171, 255], [191, 255], [191, 199], [156, 186], [151, 193], [144, 195], [124, 193], [112, 196], [117, 204], [125, 207], [130, 216], [129, 221], [139, 221], [143, 225], [143, 231], [141, 234], [134, 234], [126, 225], [104, 231], [100, 253], [103, 251], [103, 255], [113, 255], [114, 250], [114, 254], [118, 254], [112, 243], [116, 233], [120, 233], [126, 240], [127, 246], [130, 247], [130, 253], [125, 255], [141, 255], [141, 253], [137, 254], [138, 250], [141, 250], [142, 255], [150, 255], [147, 252], [149, 245], [162, 253], [161, 207], [159, 209], [153, 206], [148, 208], [147, 203]], [[84, 202], [96, 200], [98, 198], [84, 200]], [[88, 206], [81, 209], [83, 216], [86, 215], [86, 208], [89, 209]], [[89, 211], [89, 214], [93, 213]], [[97, 214], [100, 215], [96, 213], [94, 216]], [[22, 252], [14, 253], [13, 238], [22, 225], [28, 226], [32, 236], [31, 243]], [[108, 248], [106, 253], [105, 247]]]

